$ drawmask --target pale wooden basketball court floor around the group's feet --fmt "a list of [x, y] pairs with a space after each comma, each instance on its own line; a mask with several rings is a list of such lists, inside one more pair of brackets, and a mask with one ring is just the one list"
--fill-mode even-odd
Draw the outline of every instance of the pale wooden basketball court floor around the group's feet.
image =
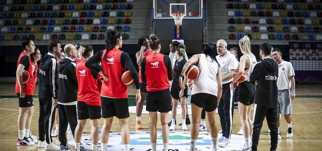
[[[0, 85], [0, 97], [4, 96], [15, 96], [14, 87]], [[311, 89], [311, 90], [310, 90]], [[297, 94], [304, 95], [321, 95], [320, 87], [299, 87]], [[303, 90], [303, 92], [299, 92]], [[304, 91], [305, 90], [305, 91]], [[279, 140], [277, 151], [321, 151], [322, 150], [322, 98], [305, 97], [296, 98], [293, 102], [293, 126], [294, 135], [292, 138], [286, 138], [287, 123], [284, 119], [281, 122], [281, 134], [282, 140]], [[35, 113], [32, 119], [31, 132], [38, 136], [38, 117], [39, 117], [39, 101], [38, 98], [34, 98]], [[17, 119], [19, 114], [18, 99], [17, 98], [0, 98], [0, 151], [44, 151], [44, 149], [38, 149], [33, 147], [17, 147], [18, 137], [18, 126]], [[190, 115], [191, 116], [191, 115]], [[171, 119], [171, 115], [168, 116], [168, 121]], [[181, 115], [177, 115], [178, 121], [181, 121]], [[143, 130], [148, 130], [148, 114], [142, 114], [141, 117]], [[160, 119], [159, 119], [160, 121]], [[135, 130], [136, 115], [130, 113], [129, 117], [129, 128], [130, 132]], [[219, 116], [216, 117], [217, 126], [220, 128]], [[102, 126], [103, 121], [100, 121]], [[180, 123], [180, 122], [179, 122]], [[207, 124], [208, 125], [208, 124]], [[237, 134], [241, 126], [238, 110], [234, 110], [233, 118], [233, 134]], [[180, 126], [177, 126], [180, 129]], [[188, 131], [191, 126], [188, 125]], [[90, 131], [90, 125], [86, 124], [85, 129]], [[120, 132], [120, 126], [118, 120], [115, 118], [112, 125], [113, 132]], [[268, 127], [264, 121], [262, 127], [262, 133], [260, 136], [259, 151], [269, 151], [270, 140], [269, 134], [267, 133]], [[158, 131], [161, 131], [160, 122], [158, 123]], [[178, 131], [178, 130], [177, 130]], [[209, 130], [208, 130], [209, 131]], [[89, 135], [87, 132], [83, 135]], [[54, 137], [54, 142], [59, 145], [58, 137]], [[72, 147], [71, 147], [72, 148]], [[73, 149], [73, 148], [72, 148]]]

